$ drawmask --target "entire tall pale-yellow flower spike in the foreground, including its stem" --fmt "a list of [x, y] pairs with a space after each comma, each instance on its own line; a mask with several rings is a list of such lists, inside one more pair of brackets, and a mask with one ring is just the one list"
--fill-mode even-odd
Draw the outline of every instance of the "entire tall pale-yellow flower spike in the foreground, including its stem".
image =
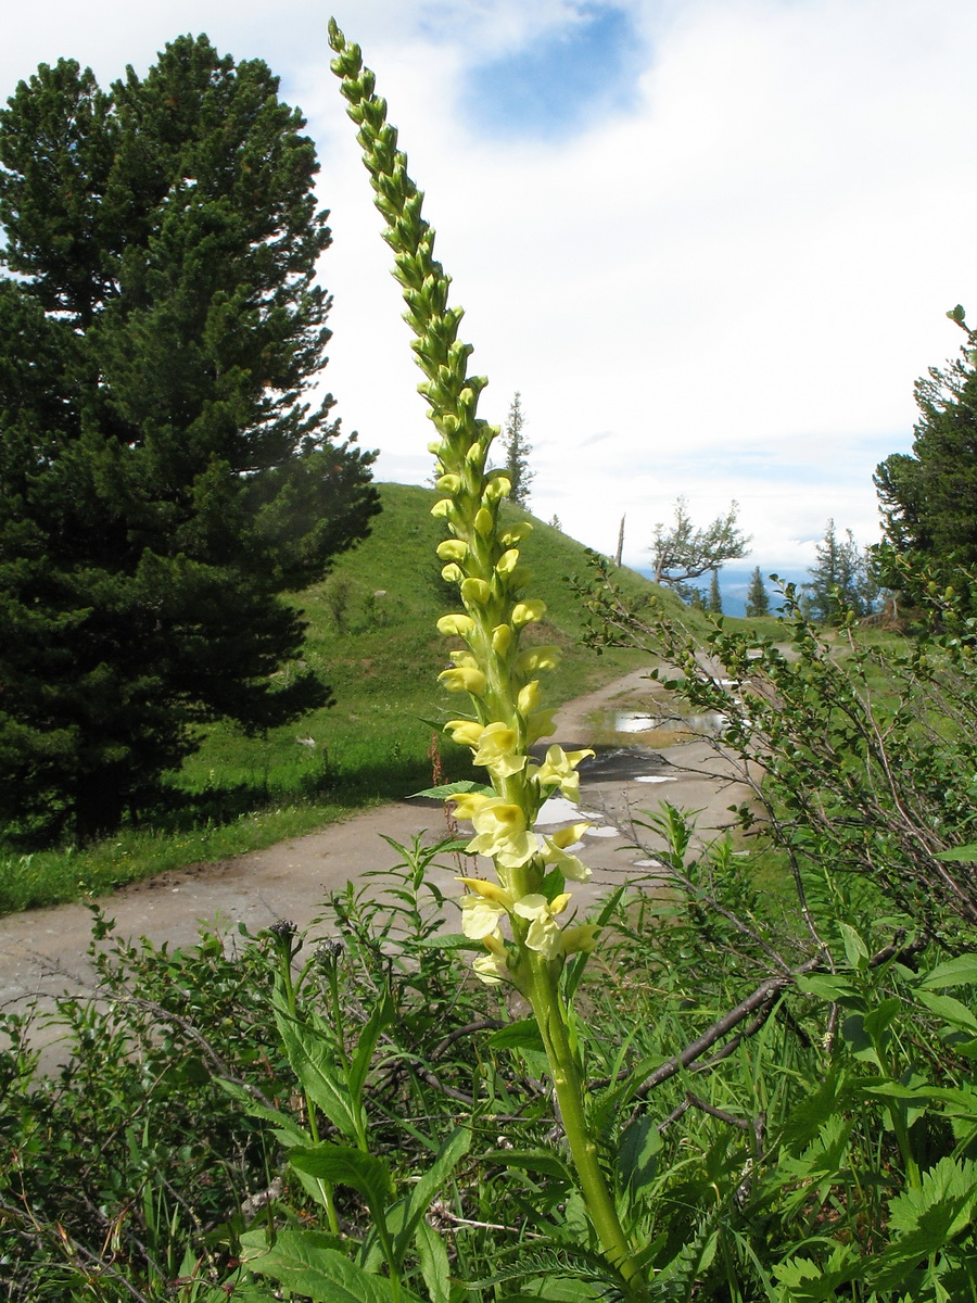
[[[641, 1272], [588, 1127], [582, 1065], [571, 1041], [560, 988], [567, 954], [588, 951], [594, 943], [593, 930], [574, 928], [564, 938], [558, 923], [569, 903], [561, 880], [571, 861], [580, 861], [564, 857], [559, 840], [546, 843], [534, 831], [548, 791], [559, 786], [567, 795], [576, 792], [576, 767], [588, 752], [568, 756], [551, 747], [542, 766], [528, 761], [529, 747], [552, 731], [551, 714], [542, 710], [538, 675], [552, 670], [559, 658], [555, 648], [520, 646], [524, 629], [538, 623], [546, 610], [539, 598], [524, 593], [531, 577], [520, 555], [528, 523], [500, 520], [512, 486], [502, 472], [487, 469], [488, 448], [499, 433], [477, 416], [478, 396], [487, 382], [468, 374], [472, 345], [457, 337], [462, 313], [448, 306], [449, 278], [434, 258], [434, 231], [421, 215], [422, 195], [408, 176], [397, 132], [387, 121], [387, 104], [374, 94], [374, 74], [363, 68], [360, 47], [347, 43], [335, 21], [330, 22], [330, 44], [348, 113], [360, 128], [357, 139], [375, 203], [387, 223], [384, 238], [393, 251], [405, 321], [416, 336], [412, 347], [425, 374], [418, 388], [436, 431], [430, 448], [442, 498], [432, 513], [444, 521], [449, 536], [439, 545], [438, 556], [446, 563], [442, 575], [457, 585], [464, 609], [438, 622], [446, 637], [462, 644], [440, 681], [449, 692], [468, 693], [472, 702], [472, 727], [452, 719], [448, 730], [472, 748], [495, 791], [492, 797], [468, 795], [456, 804], [456, 817], [474, 825], [469, 850], [490, 856], [500, 880], [496, 894], [486, 893], [482, 885], [464, 898], [464, 926], [486, 949], [475, 960], [478, 976], [491, 984], [515, 984], [533, 1007], [585, 1205], [608, 1261], [637, 1299], [645, 1293]], [[584, 874], [572, 868], [569, 876]], [[511, 942], [499, 926], [505, 919]]]

